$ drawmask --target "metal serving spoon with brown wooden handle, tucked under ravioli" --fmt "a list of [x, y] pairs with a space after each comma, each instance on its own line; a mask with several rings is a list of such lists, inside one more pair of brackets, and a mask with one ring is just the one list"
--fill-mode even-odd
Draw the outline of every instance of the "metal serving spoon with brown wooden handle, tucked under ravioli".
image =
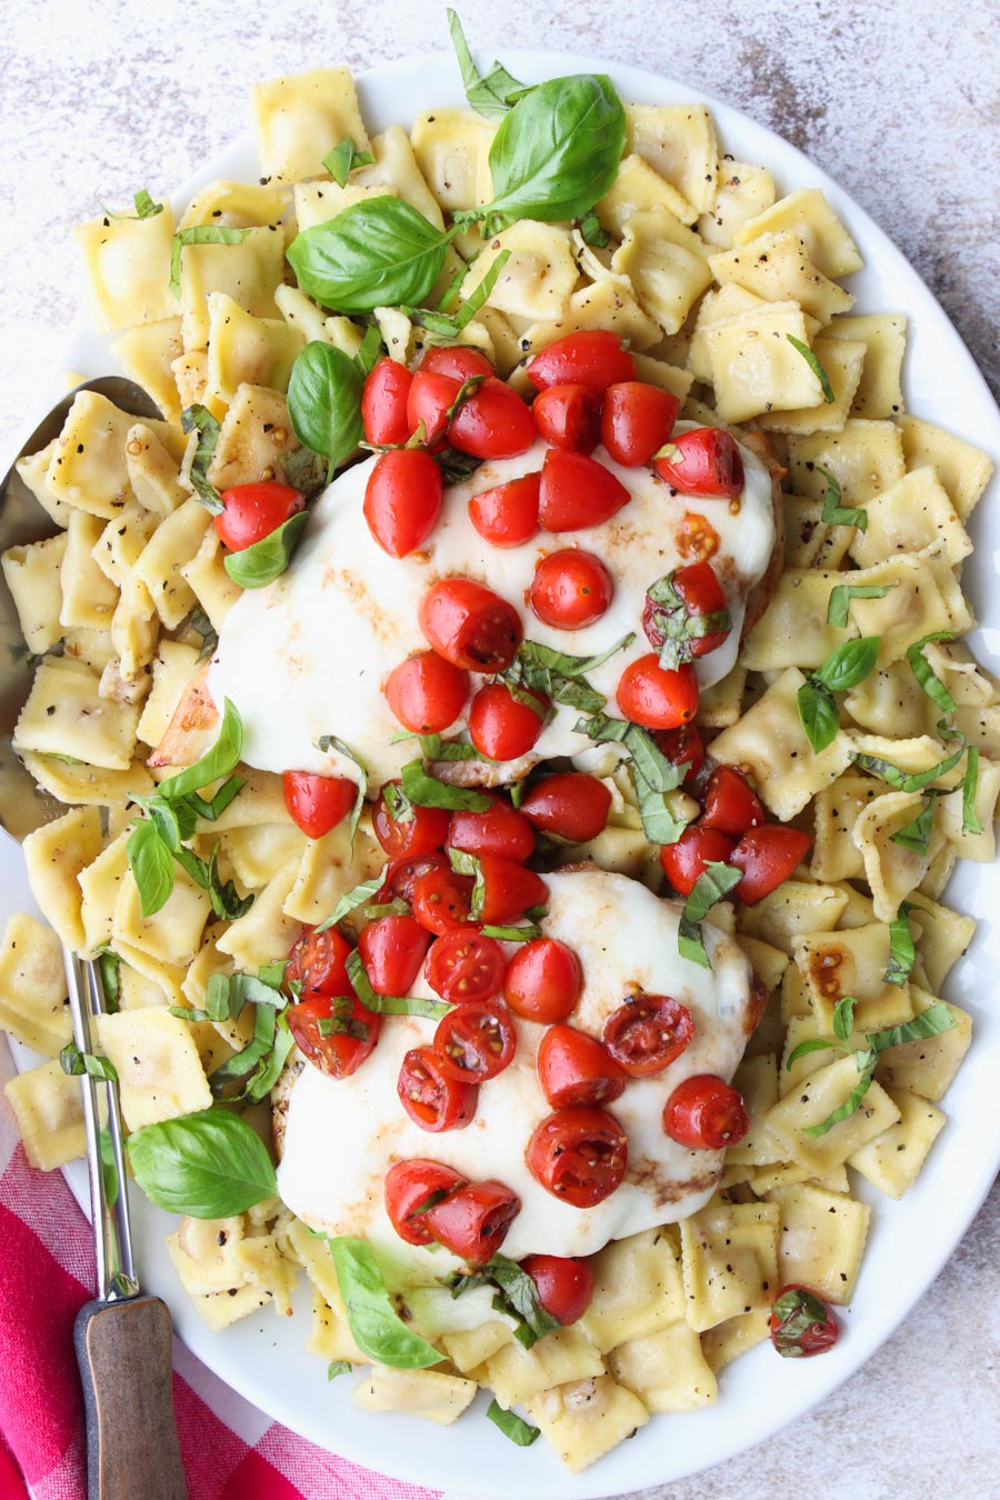
[[[135, 417], [162, 417], [129, 380], [106, 375], [85, 381], [52, 406], [18, 459], [58, 436], [79, 390], [94, 390]], [[55, 530], [12, 464], [0, 483], [0, 552]], [[30, 688], [18, 614], [0, 579], [0, 826], [18, 843], [66, 812], [39, 790], [12, 748]], [[67, 948], [63, 958], [73, 1041], [90, 1053], [90, 1023], [106, 1008], [100, 972]], [[118, 1089], [90, 1074], [81, 1083], [97, 1281], [97, 1296], [73, 1324], [87, 1418], [87, 1494], [90, 1500], [183, 1500], [187, 1488], [174, 1416], [172, 1324], [166, 1304], [142, 1293], [135, 1270]], [[109, 1148], [106, 1164], [102, 1137]]]

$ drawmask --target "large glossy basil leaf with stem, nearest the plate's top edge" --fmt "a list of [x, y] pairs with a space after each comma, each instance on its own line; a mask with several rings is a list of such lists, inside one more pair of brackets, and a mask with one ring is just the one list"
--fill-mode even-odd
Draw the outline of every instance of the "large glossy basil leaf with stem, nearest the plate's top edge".
[[579, 219], [603, 198], [625, 150], [625, 111], [610, 78], [550, 78], [504, 116], [489, 154], [493, 200], [456, 214], [496, 234], [517, 219]]

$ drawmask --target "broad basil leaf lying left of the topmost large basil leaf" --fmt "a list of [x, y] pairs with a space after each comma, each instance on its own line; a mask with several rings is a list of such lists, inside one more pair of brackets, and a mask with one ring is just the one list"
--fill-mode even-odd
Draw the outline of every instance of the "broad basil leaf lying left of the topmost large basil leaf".
[[450, 234], [402, 198], [351, 204], [288, 248], [298, 284], [333, 312], [373, 312], [420, 303], [444, 267]]

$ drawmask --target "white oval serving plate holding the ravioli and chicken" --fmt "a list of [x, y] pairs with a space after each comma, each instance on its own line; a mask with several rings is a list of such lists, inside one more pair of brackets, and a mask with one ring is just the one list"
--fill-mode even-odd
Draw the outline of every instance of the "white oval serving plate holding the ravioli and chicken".
[[[696, 104], [712, 110], [723, 150], [739, 160], [768, 166], [778, 192], [819, 186], [841, 214], [865, 258], [865, 270], [849, 279], [856, 312], [904, 312], [909, 318], [907, 410], [1000, 454], [1000, 414], [972, 356], [931, 292], [879, 226], [808, 158], [729, 105], [637, 68], [604, 64], [562, 52], [505, 51], [513, 74], [535, 82], [568, 72], [606, 72], [621, 96], [639, 104]], [[406, 58], [361, 74], [358, 93], [373, 130], [409, 123], [421, 110], [463, 104], [459, 70], [450, 57]], [[189, 182], [178, 201], [213, 177], [255, 180], [258, 162], [249, 136], [210, 162]], [[78, 326], [66, 350], [66, 368], [84, 375], [118, 370], [117, 360], [87, 326]], [[52, 400], [61, 390], [52, 393]], [[991, 489], [997, 489], [997, 482]], [[991, 572], [1000, 556], [1000, 519], [990, 516], [987, 495], [973, 516], [976, 552], [966, 562], [964, 588], [982, 620], [972, 638], [984, 663], [1000, 669], [1000, 598]], [[991, 570], [991, 562], [994, 564]], [[963, 912], [987, 918], [1000, 908], [997, 867], [960, 867], [948, 900]], [[0, 918], [30, 903], [24, 867], [15, 846], [0, 844]], [[301, 1292], [294, 1318], [270, 1310], [223, 1334], [211, 1334], [180, 1288], [163, 1248], [174, 1221], [138, 1191], [132, 1194], [144, 1286], [166, 1299], [184, 1342], [225, 1382], [292, 1431], [360, 1464], [435, 1488], [511, 1497], [544, 1494], [547, 1500], [588, 1500], [667, 1484], [732, 1458], [772, 1436], [847, 1380], [894, 1332], [955, 1250], [990, 1190], [1000, 1164], [1000, 1119], [996, 1078], [1000, 1065], [1000, 1016], [984, 1004], [1000, 969], [1000, 938], [982, 921], [969, 954], [952, 970], [948, 999], [973, 1012], [973, 1047], [945, 1107], [949, 1124], [918, 1184], [903, 1203], [871, 1194], [873, 1227], [853, 1304], [843, 1310], [841, 1338], [822, 1359], [783, 1360], [768, 1344], [736, 1360], [721, 1378], [720, 1400], [706, 1410], [652, 1418], [634, 1442], [624, 1443], [583, 1474], [570, 1474], [544, 1442], [514, 1448], [484, 1418], [480, 1396], [474, 1413], [442, 1430], [403, 1416], [358, 1412], [349, 1402], [354, 1380], [327, 1384], [322, 1360], [306, 1354], [309, 1298]], [[21, 1065], [34, 1059], [16, 1048]], [[336, 1150], [336, 1143], [331, 1142]], [[67, 1168], [76, 1198], [87, 1204], [82, 1164]]]

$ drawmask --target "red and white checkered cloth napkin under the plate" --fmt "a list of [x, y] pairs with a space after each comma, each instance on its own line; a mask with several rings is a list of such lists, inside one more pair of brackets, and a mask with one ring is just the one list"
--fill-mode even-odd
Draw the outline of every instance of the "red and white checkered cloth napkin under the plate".
[[[0, 1041], [0, 1086], [10, 1077]], [[73, 1317], [93, 1296], [90, 1226], [61, 1173], [27, 1164], [0, 1096], [0, 1500], [81, 1500], [82, 1398]], [[438, 1500], [271, 1422], [174, 1340], [189, 1500]]]

